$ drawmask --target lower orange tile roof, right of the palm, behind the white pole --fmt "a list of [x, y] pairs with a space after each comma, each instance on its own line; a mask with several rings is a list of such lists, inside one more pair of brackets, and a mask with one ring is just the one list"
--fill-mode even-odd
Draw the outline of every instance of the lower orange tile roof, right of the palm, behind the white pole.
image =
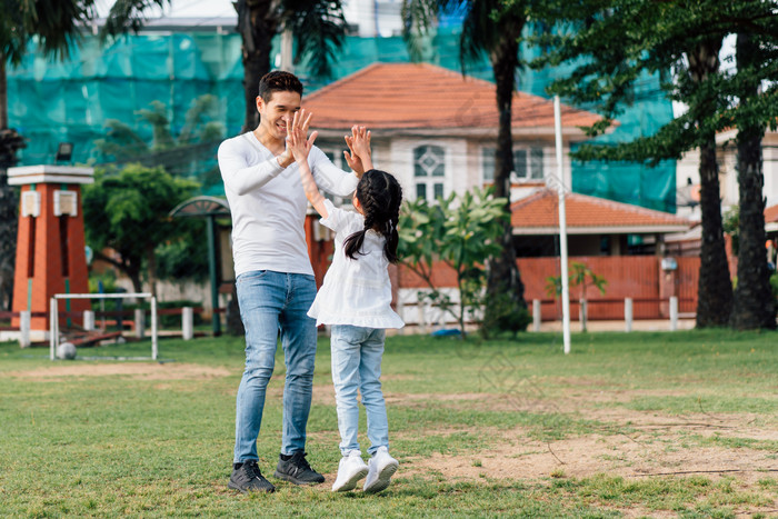
[[[556, 229], [559, 226], [559, 197], [557, 191], [540, 189], [510, 206], [511, 224], [521, 233], [541, 229]], [[565, 198], [567, 227], [575, 233], [578, 229], [595, 231], [598, 228], [624, 229], [624, 232], [669, 232], [686, 230], [689, 220], [669, 212], [655, 211], [629, 203], [615, 202], [597, 197], [568, 193]], [[631, 229], [631, 231], [630, 231]]]

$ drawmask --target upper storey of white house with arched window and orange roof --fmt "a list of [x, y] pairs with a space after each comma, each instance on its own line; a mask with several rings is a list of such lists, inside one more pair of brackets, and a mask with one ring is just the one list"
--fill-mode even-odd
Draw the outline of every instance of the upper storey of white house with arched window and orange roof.
[[[346, 167], [343, 136], [352, 124], [371, 130], [373, 163], [393, 173], [406, 198], [433, 200], [493, 181], [498, 112], [495, 84], [427, 63], [375, 63], [307, 96], [317, 146]], [[579, 128], [600, 118], [561, 109], [565, 157]], [[512, 199], [543, 186], [556, 172], [553, 103], [513, 94]], [[570, 186], [566, 159], [565, 184]]]

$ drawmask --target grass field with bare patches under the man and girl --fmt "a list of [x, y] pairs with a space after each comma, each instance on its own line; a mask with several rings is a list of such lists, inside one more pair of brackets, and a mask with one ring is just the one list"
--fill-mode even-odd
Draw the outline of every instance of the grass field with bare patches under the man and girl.
[[278, 491], [227, 489], [242, 348], [163, 340], [161, 363], [51, 362], [0, 343], [0, 517], [778, 517], [776, 333], [573, 335], [569, 356], [559, 335], [391, 337], [383, 390], [400, 469], [373, 496], [329, 491], [339, 438], [326, 338], [307, 448], [326, 483], [271, 476], [279, 355], [259, 441]]

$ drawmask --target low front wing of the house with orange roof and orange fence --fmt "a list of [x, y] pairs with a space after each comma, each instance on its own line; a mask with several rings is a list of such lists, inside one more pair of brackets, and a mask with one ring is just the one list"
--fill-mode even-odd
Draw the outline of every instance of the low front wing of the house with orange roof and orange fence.
[[[579, 193], [567, 193], [565, 206], [569, 261], [586, 263], [607, 281], [605, 296], [594, 287], [587, 290], [590, 319], [622, 319], [626, 298], [635, 302], [636, 319], [668, 317], [667, 300], [671, 296], [679, 298], [682, 313], [695, 311], [699, 258], [670, 257], [665, 248], [665, 236], [688, 230], [690, 221]], [[547, 288], [548, 278], [561, 272], [558, 192], [542, 188], [517, 200], [511, 204], [511, 223], [525, 300], [541, 301], [543, 320], [560, 319], [560, 303]], [[407, 322], [421, 321], [416, 292], [425, 287], [423, 281], [405, 269], [400, 269], [398, 280], [402, 309], [410, 307], [403, 318]], [[453, 287], [456, 273], [443, 265], [436, 266], [435, 281]], [[453, 292], [450, 296], [456, 298]], [[580, 296], [571, 292], [573, 317], [578, 316]], [[432, 310], [427, 313], [428, 322], [442, 317]]]

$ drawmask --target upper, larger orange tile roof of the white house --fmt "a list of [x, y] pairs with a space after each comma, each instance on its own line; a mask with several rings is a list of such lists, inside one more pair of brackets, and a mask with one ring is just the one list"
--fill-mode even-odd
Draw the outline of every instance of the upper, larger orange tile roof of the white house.
[[[373, 63], [307, 96], [313, 127], [342, 130], [497, 128], [495, 84], [428, 63]], [[513, 128], [553, 128], [553, 102], [513, 94]], [[591, 126], [596, 113], [562, 104], [563, 127]]]

